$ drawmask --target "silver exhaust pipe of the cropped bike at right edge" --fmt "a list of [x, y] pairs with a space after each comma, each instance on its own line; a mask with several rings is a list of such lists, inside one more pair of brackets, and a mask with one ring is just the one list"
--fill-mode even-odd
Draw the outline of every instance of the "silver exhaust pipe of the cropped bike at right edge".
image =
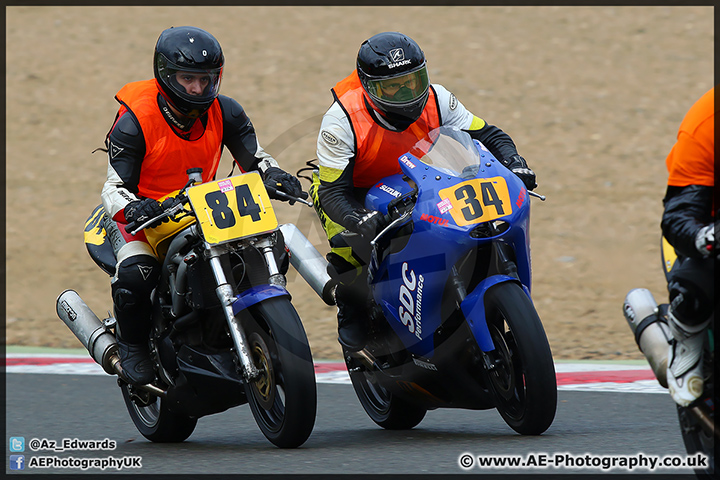
[[665, 319], [646, 288], [635, 288], [628, 292], [623, 304], [623, 313], [630, 329], [635, 334], [635, 342], [660, 385], [667, 387], [668, 345], [672, 334]]

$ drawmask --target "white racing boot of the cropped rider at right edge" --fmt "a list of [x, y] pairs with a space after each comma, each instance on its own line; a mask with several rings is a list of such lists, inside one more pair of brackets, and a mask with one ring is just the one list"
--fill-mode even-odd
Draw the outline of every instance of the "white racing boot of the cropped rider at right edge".
[[667, 382], [675, 403], [687, 407], [703, 393], [703, 341], [707, 320], [700, 325], [681, 323], [672, 310], [668, 312], [668, 325], [672, 340], [668, 352]]

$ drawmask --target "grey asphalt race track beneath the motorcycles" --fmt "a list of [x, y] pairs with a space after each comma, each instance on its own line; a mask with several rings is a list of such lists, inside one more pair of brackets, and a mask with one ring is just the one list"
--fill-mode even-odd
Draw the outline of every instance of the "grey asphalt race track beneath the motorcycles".
[[[602, 462], [615, 457], [625, 459], [626, 464], [666, 456], [685, 460], [675, 407], [667, 394], [652, 387], [646, 390], [650, 393], [633, 393], [639, 389], [603, 389], [599, 384], [589, 384], [585, 377], [592, 372], [573, 377], [580, 381], [585, 378], [585, 385], [590, 387], [573, 386], [568, 384], [570, 374], [562, 372], [568, 370], [562, 364], [558, 365], [560, 391], [555, 421], [545, 434], [535, 437], [516, 434], [494, 410], [440, 409], [428, 412], [413, 430], [383, 430], [360, 407], [346, 382], [347, 373], [319, 364], [316, 370], [324, 373], [318, 374], [315, 429], [302, 447], [280, 450], [262, 435], [247, 405], [200, 419], [184, 443], [151, 443], [128, 417], [114, 377], [97, 371], [15, 373], [23, 369], [13, 366], [13, 360], [17, 363], [17, 359], [7, 359], [6, 451], [24, 455], [25, 470], [33, 473], [101, 472], [98, 468], [38, 468], [39, 458], [44, 457], [114, 457], [124, 458], [127, 464], [134, 458], [136, 468], [122, 472], [143, 474], [692, 473], [688, 468], [650, 470], [641, 466], [603, 470]], [[26, 367], [25, 371], [36, 367]], [[24, 452], [11, 450], [10, 437], [24, 438]], [[109, 439], [115, 448], [32, 451], [32, 439], [47, 440], [46, 447], [49, 441], [61, 445], [64, 439]], [[465, 454], [472, 460], [469, 468], [460, 466]], [[499, 470], [478, 466], [479, 456], [503, 455], [532, 466]], [[31, 467], [28, 462], [32, 457], [39, 458]], [[554, 462], [563, 464], [555, 468], [551, 466]], [[117, 471], [105, 469], [105, 473]], [[12, 471], [9, 463], [6, 472], [20, 473]]]

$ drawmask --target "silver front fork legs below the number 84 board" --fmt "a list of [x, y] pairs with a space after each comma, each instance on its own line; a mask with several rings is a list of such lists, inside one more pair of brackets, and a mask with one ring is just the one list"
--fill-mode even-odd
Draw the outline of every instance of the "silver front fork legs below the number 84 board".
[[[268, 237], [265, 237], [256, 242], [255, 246], [265, 257], [268, 273], [270, 274], [270, 284], [285, 286], [285, 276], [280, 273], [277, 262], [275, 261], [275, 255], [273, 254], [273, 242]], [[215, 292], [220, 299], [225, 319], [228, 322], [230, 336], [233, 339], [238, 358], [240, 359], [243, 377], [247, 381], [253, 381], [260, 376], [260, 371], [258, 371], [253, 363], [252, 356], [250, 355], [250, 346], [245, 337], [245, 331], [240, 327], [240, 322], [233, 312], [233, 303], [235, 303], [237, 297], [235, 296], [232, 286], [230, 286], [230, 283], [227, 281], [225, 270], [223, 270], [220, 262], [220, 256], [226, 253], [226, 251], [227, 247], [224, 246], [209, 246], [207, 247], [206, 254], [210, 268], [215, 276], [215, 281], [217, 282]]]

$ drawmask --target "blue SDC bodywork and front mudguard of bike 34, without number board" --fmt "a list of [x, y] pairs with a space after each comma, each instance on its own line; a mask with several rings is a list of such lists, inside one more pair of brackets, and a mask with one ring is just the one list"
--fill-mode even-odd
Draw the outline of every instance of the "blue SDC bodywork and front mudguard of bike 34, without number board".
[[[388, 320], [408, 351], [425, 358], [434, 352], [433, 336], [440, 327], [442, 296], [449, 272], [470, 249], [479, 243], [497, 241], [509, 244], [516, 255], [518, 276], [523, 288], [529, 292], [531, 281], [529, 227], [529, 198], [522, 181], [497, 161], [479, 142], [476, 148], [482, 163], [468, 178], [458, 177], [443, 169], [428, 165], [410, 153], [399, 158], [403, 173], [418, 186], [417, 202], [412, 211], [413, 231], [406, 245], [400, 250], [387, 254], [378, 265], [370, 263], [370, 285], [375, 302], [381, 307]], [[508, 187], [511, 205], [509, 213], [499, 217], [509, 228], [491, 238], [473, 238], [470, 232], [479, 224], [460, 226], [451, 213], [441, 210], [443, 199], [437, 193], [443, 189], [465, 182], [471, 178], [502, 176]], [[401, 174], [386, 177], [370, 188], [365, 198], [369, 209], [387, 213], [387, 206], [394, 198], [408, 193], [412, 187]], [[517, 281], [506, 276], [485, 279], [485, 290], [501, 281]], [[494, 283], [493, 283], [494, 282]], [[482, 283], [481, 283], [482, 284]], [[469, 324], [475, 324], [473, 334], [482, 342], [483, 350], [492, 350], [484, 317], [482, 303], [485, 290], [476, 288], [468, 294], [463, 313], [472, 316]], [[482, 305], [482, 311], [476, 305]], [[474, 319], [474, 320], [473, 320]]]

